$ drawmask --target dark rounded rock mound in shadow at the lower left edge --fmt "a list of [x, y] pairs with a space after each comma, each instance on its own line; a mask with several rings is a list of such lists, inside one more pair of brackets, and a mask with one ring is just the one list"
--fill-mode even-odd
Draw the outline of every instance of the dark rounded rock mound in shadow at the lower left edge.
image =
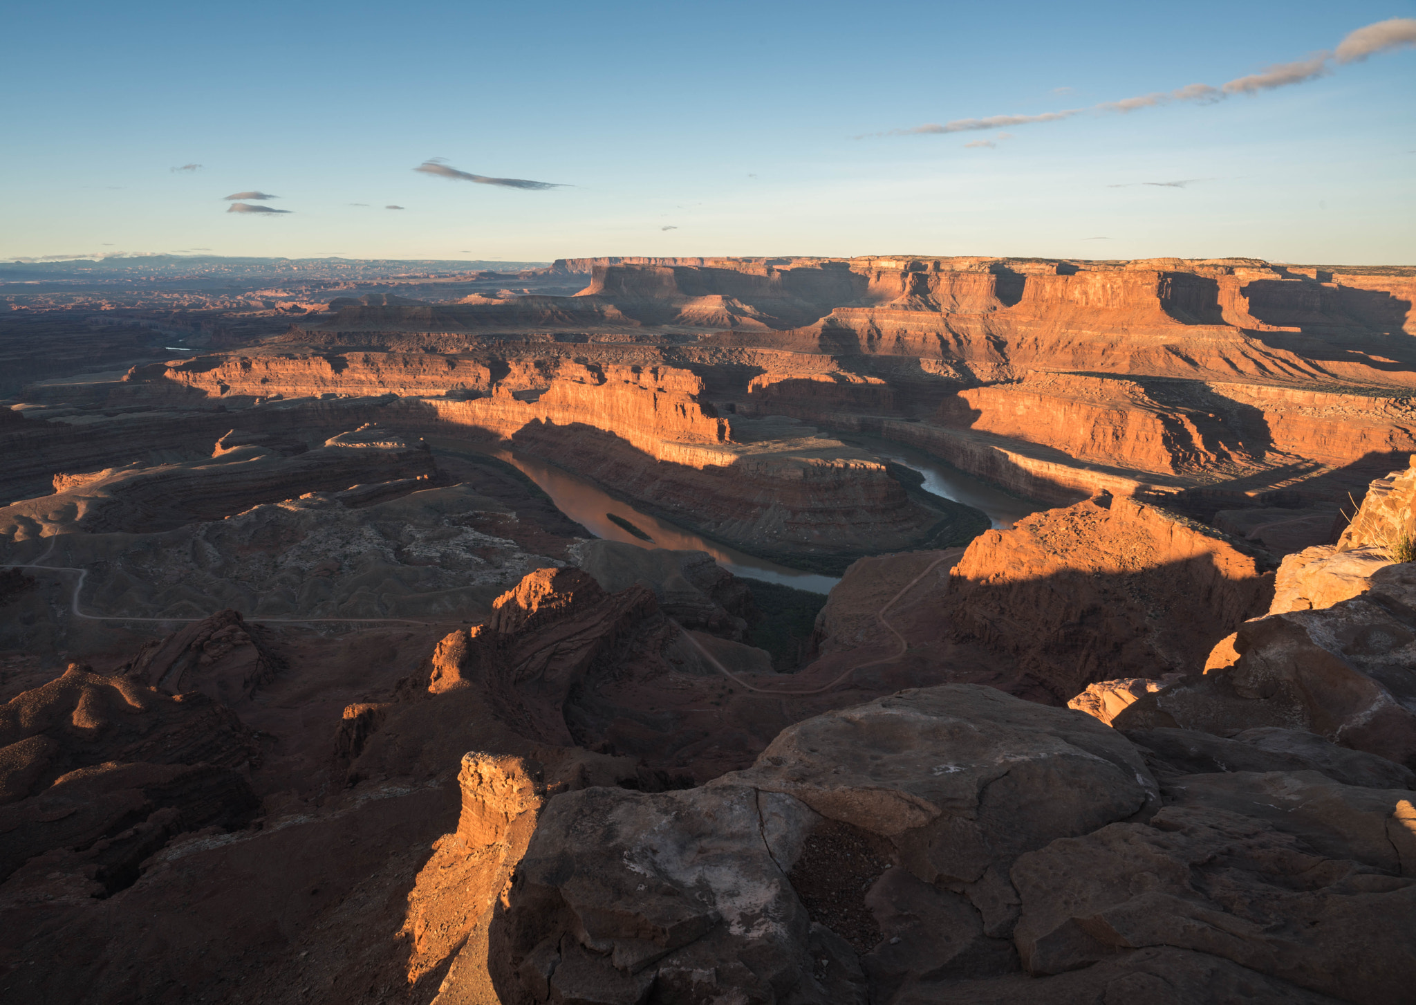
[[201, 693], [169, 696], [81, 666], [0, 706], [0, 879], [78, 873], [89, 896], [137, 879], [180, 832], [242, 826], [251, 731]]

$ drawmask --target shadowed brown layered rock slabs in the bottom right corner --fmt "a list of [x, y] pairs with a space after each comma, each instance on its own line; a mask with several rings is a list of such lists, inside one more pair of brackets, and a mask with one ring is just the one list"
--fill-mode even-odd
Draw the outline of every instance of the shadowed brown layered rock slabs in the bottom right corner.
[[[1410, 794], [1369, 799], [1361, 794], [1371, 790], [1313, 778], [1185, 778], [1174, 782], [1185, 798], [1147, 824], [1113, 824], [1024, 856], [1012, 869], [1024, 967], [1062, 974], [1127, 950], [1175, 947], [1340, 1001], [1403, 1001], [1416, 972], [1399, 933], [1416, 883], [1399, 879], [1393, 862], [1364, 862], [1354, 845], [1355, 832], [1375, 826], [1391, 849], [1388, 819], [1395, 811], [1402, 832]], [[1337, 805], [1306, 804], [1304, 790]], [[1262, 812], [1276, 797], [1287, 815]], [[1138, 873], [1154, 882], [1136, 889]]]

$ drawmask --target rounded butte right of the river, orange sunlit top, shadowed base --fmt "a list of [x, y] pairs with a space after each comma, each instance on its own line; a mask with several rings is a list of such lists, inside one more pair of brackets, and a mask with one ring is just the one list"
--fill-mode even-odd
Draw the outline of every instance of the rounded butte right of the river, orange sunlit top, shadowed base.
[[943, 607], [956, 632], [1065, 702], [1096, 680], [1197, 672], [1270, 588], [1259, 560], [1212, 532], [1103, 496], [981, 534]]

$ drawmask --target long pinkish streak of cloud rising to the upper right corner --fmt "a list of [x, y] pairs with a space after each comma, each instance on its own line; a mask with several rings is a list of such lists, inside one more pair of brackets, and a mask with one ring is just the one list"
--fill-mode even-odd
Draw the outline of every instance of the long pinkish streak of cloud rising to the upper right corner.
[[[1358, 28], [1344, 38], [1335, 52], [1314, 52], [1306, 60], [1293, 62], [1279, 62], [1264, 67], [1257, 74], [1236, 77], [1235, 79], [1212, 86], [1209, 84], [1188, 84], [1174, 91], [1153, 91], [1151, 94], [1121, 98], [1120, 101], [1106, 101], [1090, 108], [1068, 108], [1059, 112], [1041, 112], [1038, 115], [991, 115], [981, 119], [952, 119], [943, 125], [926, 122], [912, 129], [891, 129], [884, 133], [867, 133], [867, 136], [927, 136], [936, 133], [959, 133], [984, 129], [1000, 129], [1004, 126], [1024, 126], [1037, 122], [1061, 122], [1085, 112], [1092, 113], [1127, 113], [1143, 108], [1155, 108], [1171, 102], [1214, 103], [1233, 95], [1256, 95], [1262, 91], [1273, 91], [1294, 84], [1304, 84], [1318, 77], [1332, 72], [1331, 62], [1338, 64], [1359, 62], [1369, 55], [1386, 52], [1395, 48], [1416, 45], [1416, 18], [1393, 17], [1376, 24]], [[1070, 88], [1055, 88], [1054, 94], [1065, 94]], [[855, 139], [864, 139], [857, 136]], [[987, 142], [966, 143], [964, 146], [990, 146]], [[1150, 183], [1147, 183], [1150, 184]], [[1154, 183], [1161, 184], [1161, 183]]]

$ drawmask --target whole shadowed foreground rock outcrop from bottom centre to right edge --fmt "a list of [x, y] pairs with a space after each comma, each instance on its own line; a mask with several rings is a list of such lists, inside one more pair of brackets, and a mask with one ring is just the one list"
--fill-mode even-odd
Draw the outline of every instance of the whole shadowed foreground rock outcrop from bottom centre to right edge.
[[555, 797], [493, 981], [506, 1002], [1398, 1002], [1412, 792], [1335, 753], [1365, 785], [1180, 774], [1075, 712], [902, 692], [701, 788]]

